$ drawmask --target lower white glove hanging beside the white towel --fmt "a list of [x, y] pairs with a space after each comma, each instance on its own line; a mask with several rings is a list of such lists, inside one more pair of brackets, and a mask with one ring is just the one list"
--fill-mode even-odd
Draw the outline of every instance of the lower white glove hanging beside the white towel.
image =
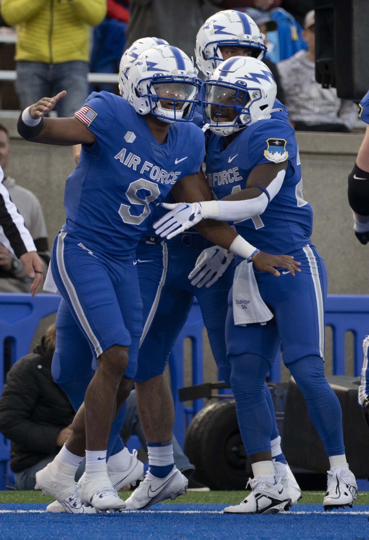
[[197, 258], [196, 266], [189, 274], [191, 285], [211, 287], [231, 264], [233, 253], [219, 246], [207, 247]]

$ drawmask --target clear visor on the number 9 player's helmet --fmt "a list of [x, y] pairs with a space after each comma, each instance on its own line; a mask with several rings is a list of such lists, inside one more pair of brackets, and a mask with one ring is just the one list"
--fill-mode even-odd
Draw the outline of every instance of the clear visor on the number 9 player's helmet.
[[198, 99], [198, 88], [191, 83], [154, 83], [152, 90], [158, 97], [159, 106], [170, 111], [184, 111], [193, 100]]

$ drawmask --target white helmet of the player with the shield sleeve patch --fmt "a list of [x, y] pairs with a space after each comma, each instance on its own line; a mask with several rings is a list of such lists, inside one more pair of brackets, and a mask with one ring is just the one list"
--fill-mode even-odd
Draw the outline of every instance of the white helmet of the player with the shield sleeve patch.
[[276, 95], [276, 82], [263, 62], [244, 56], [229, 58], [205, 83], [204, 120], [213, 133], [225, 137], [270, 118]]

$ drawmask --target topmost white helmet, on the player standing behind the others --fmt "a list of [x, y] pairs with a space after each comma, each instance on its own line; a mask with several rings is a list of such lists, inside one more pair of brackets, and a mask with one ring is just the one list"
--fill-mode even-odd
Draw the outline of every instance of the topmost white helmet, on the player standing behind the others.
[[223, 62], [219, 47], [232, 45], [252, 49], [254, 58], [264, 60], [266, 46], [264, 34], [253, 19], [241, 11], [227, 9], [218, 11], [206, 19], [196, 36], [196, 63], [200, 71], [209, 77]]

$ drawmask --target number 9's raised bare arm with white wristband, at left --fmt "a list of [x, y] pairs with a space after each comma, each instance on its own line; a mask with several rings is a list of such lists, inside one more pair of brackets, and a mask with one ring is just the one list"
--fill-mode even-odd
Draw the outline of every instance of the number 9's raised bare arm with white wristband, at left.
[[44, 118], [65, 95], [63, 90], [53, 98], [42, 98], [25, 109], [18, 119], [19, 135], [32, 143], [60, 146], [95, 143], [95, 135], [75, 117]]

